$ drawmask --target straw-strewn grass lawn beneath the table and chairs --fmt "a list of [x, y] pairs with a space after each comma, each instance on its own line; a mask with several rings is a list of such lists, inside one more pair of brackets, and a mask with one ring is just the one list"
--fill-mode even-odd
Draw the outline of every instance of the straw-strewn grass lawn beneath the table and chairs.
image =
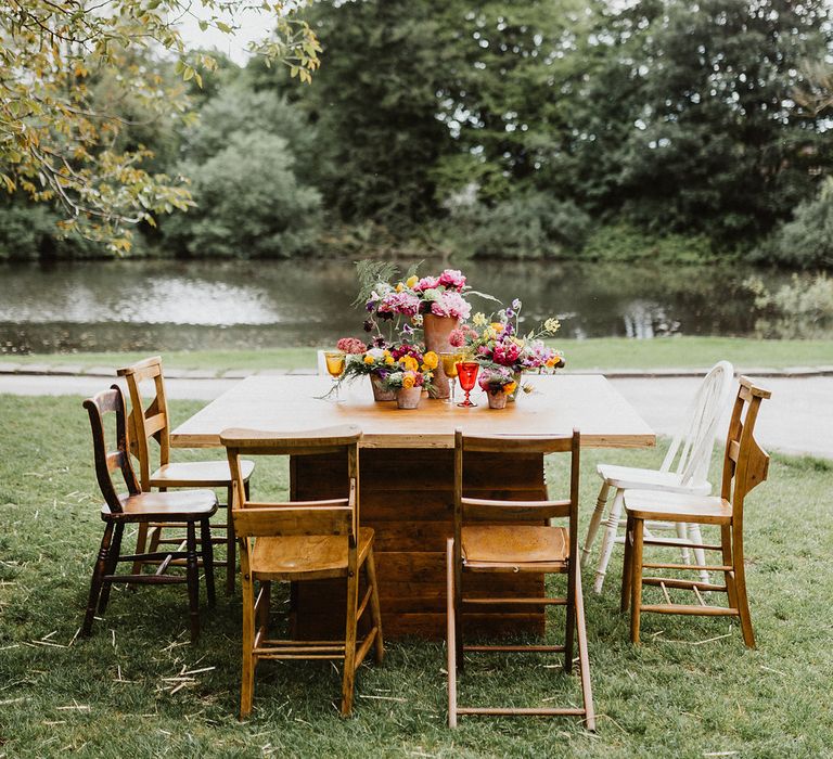
[[[171, 403], [174, 424], [198, 406]], [[196, 645], [182, 586], [116, 589], [92, 636], [75, 639], [103, 529], [86, 412], [76, 398], [0, 396], [0, 756], [830, 756], [833, 463], [776, 456], [748, 501], [756, 651], [726, 619], [650, 615], [632, 647], [614, 555], [605, 593], [587, 593], [597, 735], [572, 719], [463, 718], [449, 731], [444, 646], [420, 641], [392, 641], [384, 666], [362, 667], [349, 720], [336, 713], [330, 664], [265, 662], [255, 712], [241, 723], [239, 594], [219, 590], [217, 607], [204, 607]], [[650, 465], [661, 453], [584, 454], [582, 533], [595, 463]], [[261, 463], [255, 492], [285, 488], [285, 466]], [[478, 657], [461, 698], [577, 703], [576, 678], [552, 664]], [[176, 690], [183, 668], [204, 671]]]

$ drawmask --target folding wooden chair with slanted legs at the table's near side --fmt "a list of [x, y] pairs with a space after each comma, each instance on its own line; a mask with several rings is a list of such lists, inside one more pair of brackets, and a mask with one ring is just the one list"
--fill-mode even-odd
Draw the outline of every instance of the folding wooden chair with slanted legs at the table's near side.
[[[585, 605], [578, 564], [578, 479], [580, 436], [562, 437], [472, 437], [454, 434], [454, 537], [447, 543], [448, 608], [448, 724], [457, 726], [460, 715], [537, 717], [582, 717], [588, 730], [595, 730], [590, 661], [587, 652]], [[465, 498], [463, 467], [469, 452], [569, 453], [569, 498], [560, 501], [498, 501]], [[543, 520], [567, 518], [567, 527], [544, 525]], [[467, 524], [477, 520], [475, 524]], [[483, 524], [484, 520], [503, 524]], [[521, 520], [522, 525], [512, 522]], [[529, 524], [530, 522], [537, 524]], [[507, 524], [509, 523], [509, 524]], [[464, 577], [469, 573], [566, 574], [566, 597], [466, 597]], [[566, 606], [564, 645], [464, 645], [463, 616], [467, 608], [485, 605]], [[584, 708], [569, 707], [460, 707], [457, 676], [466, 652], [555, 652], [564, 654], [564, 671], [573, 670], [574, 635], [578, 633], [578, 667]]]

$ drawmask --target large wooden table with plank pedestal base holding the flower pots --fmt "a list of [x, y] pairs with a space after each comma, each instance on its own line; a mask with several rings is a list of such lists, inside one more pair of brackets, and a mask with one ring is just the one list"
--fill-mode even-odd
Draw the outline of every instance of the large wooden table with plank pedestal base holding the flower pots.
[[[171, 433], [174, 446], [219, 447], [226, 427], [303, 430], [357, 424], [364, 433], [360, 453], [363, 525], [376, 532], [376, 566], [385, 634], [445, 634], [445, 541], [452, 529], [453, 434], [569, 434], [581, 432], [582, 447], [644, 448], [653, 430], [601, 375], [533, 376], [529, 395], [505, 409], [490, 410], [480, 390], [476, 409], [423, 397], [420, 408], [400, 411], [376, 403], [369, 382], [342, 388], [344, 402], [316, 398], [331, 386], [317, 376], [252, 376], [209, 403]], [[299, 459], [291, 464], [296, 498], [341, 496], [344, 462]], [[253, 478], [257, 489], [257, 473]], [[479, 498], [546, 498], [541, 456], [482, 456], [466, 468], [466, 491]], [[507, 577], [517, 593], [518, 578]], [[501, 591], [489, 580], [488, 593]], [[498, 580], [500, 584], [501, 580]], [[522, 592], [540, 596], [541, 578], [524, 578]], [[483, 589], [486, 592], [487, 589]], [[331, 582], [304, 583], [296, 594], [298, 634], [332, 628], [341, 589]], [[473, 622], [485, 631], [542, 632], [542, 610], [497, 609]], [[337, 618], [341, 625], [341, 618]]]

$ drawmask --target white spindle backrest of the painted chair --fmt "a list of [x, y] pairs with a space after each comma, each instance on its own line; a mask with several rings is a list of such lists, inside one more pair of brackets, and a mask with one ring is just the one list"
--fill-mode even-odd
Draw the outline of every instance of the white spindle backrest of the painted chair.
[[[662, 472], [674, 471], [683, 483], [705, 483], [715, 448], [715, 435], [720, 415], [729, 401], [734, 369], [728, 361], [718, 361], [703, 378], [688, 413], [665, 454]], [[675, 466], [675, 461], [676, 466]]]

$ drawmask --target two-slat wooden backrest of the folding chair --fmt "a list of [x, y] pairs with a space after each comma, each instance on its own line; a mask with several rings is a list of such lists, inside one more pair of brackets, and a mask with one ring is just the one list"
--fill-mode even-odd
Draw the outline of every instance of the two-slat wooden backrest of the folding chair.
[[[569, 555], [578, 555], [578, 483], [581, 435], [521, 437], [509, 435], [472, 436], [454, 432], [454, 551], [459, 553], [461, 530], [469, 519], [504, 522], [538, 520], [567, 517], [569, 520]], [[466, 498], [463, 474], [466, 453], [571, 453], [569, 498], [558, 501], [504, 501]], [[459, 558], [459, 556], [456, 556]]]

